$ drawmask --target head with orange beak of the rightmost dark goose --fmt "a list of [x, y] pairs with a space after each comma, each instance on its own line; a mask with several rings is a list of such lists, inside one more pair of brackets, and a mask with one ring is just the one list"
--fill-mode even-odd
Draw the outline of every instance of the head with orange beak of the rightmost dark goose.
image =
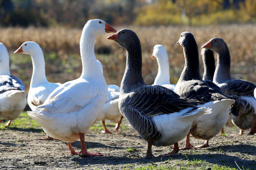
[[223, 39], [214, 37], [208, 42], [205, 42], [202, 48], [211, 49], [218, 53], [226, 48], [226, 42]]

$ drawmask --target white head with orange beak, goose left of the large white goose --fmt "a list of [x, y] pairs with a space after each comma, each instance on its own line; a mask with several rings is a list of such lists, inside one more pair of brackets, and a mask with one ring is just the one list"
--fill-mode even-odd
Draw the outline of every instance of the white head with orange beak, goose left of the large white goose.
[[23, 42], [22, 45], [14, 52], [14, 54], [22, 53], [33, 56], [36, 52], [41, 51], [40, 46], [36, 42], [27, 41]]

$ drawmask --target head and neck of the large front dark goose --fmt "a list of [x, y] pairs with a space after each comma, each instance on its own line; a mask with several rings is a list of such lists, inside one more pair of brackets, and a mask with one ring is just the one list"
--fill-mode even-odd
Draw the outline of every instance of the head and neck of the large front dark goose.
[[144, 85], [142, 79], [141, 42], [135, 32], [121, 29], [108, 37], [126, 49], [126, 69], [121, 83], [121, 92], [130, 92], [133, 88]]

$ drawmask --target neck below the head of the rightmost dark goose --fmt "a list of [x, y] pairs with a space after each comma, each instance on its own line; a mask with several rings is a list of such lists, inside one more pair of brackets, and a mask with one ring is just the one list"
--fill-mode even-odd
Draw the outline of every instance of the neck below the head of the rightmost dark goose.
[[228, 46], [225, 46], [217, 52], [217, 66], [213, 76], [214, 83], [224, 83], [231, 80], [230, 76], [230, 54]]

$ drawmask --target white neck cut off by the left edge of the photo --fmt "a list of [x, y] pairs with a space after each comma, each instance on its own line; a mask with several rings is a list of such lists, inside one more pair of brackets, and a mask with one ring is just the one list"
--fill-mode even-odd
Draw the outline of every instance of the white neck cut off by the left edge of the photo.
[[0, 75], [10, 75], [9, 54], [3, 43], [0, 42]]

